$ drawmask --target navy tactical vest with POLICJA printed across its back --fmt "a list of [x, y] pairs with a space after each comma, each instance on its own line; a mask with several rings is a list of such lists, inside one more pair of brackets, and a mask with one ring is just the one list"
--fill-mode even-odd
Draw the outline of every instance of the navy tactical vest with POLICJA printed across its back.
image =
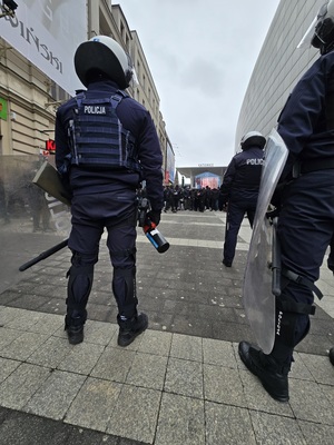
[[85, 92], [77, 95], [78, 107], [69, 125], [71, 165], [140, 171], [135, 137], [116, 115], [126, 97], [119, 90], [102, 99], [87, 99]]

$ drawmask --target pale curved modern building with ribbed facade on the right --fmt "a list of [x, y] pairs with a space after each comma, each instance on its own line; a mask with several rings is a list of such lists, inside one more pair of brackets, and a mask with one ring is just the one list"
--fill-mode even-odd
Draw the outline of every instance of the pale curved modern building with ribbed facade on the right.
[[324, 0], [281, 0], [255, 63], [240, 108], [235, 151], [247, 131], [268, 136], [289, 92], [318, 57], [315, 48], [297, 49]]

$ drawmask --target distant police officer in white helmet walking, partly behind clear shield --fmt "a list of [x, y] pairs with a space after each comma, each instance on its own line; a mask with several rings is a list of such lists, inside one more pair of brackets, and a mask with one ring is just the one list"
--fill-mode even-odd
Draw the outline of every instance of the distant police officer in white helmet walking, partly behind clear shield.
[[229, 162], [220, 186], [222, 206], [227, 207], [223, 264], [230, 267], [237, 236], [245, 214], [253, 227], [266, 138], [259, 131], [247, 132], [240, 141], [242, 151]]

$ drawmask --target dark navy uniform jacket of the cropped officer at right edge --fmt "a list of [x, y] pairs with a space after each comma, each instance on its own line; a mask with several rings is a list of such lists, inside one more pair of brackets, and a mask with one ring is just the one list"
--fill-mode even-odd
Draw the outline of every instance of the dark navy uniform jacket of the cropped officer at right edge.
[[301, 78], [278, 118], [289, 156], [283, 178], [302, 162], [334, 158], [334, 51], [320, 57]]

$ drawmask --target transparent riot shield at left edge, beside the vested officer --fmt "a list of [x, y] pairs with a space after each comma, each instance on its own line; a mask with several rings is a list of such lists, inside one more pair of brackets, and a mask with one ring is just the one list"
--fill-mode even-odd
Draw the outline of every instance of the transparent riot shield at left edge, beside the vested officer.
[[43, 162], [38, 155], [0, 156], [0, 294], [21, 278], [21, 264], [69, 236], [69, 206], [32, 184]]

